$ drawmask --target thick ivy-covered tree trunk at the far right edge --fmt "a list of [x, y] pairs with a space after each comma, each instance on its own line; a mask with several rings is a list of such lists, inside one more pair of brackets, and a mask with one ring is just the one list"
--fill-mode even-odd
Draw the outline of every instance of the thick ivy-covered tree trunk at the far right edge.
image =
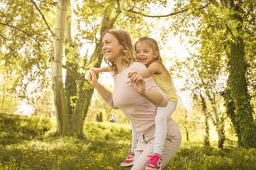
[[[216, 7], [223, 10], [225, 26], [233, 40], [228, 42], [229, 77], [227, 89], [224, 92], [228, 116], [238, 135], [238, 146], [256, 147], [256, 125], [253, 120], [251, 96], [247, 89], [247, 62], [245, 60], [245, 44], [242, 39], [243, 16], [239, 16], [240, 6], [234, 1], [210, 0]], [[232, 25], [231, 25], [232, 24]]]

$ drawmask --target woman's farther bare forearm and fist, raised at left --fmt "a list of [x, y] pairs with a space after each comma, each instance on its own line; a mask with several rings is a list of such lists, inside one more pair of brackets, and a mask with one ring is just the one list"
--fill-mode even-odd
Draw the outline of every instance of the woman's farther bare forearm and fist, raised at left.
[[97, 81], [96, 73], [93, 71], [93, 69], [90, 69], [90, 71], [85, 74], [85, 79], [87, 79], [90, 84], [95, 87], [105, 101], [111, 96], [112, 93], [105, 89], [105, 87], [102, 86], [99, 81]]

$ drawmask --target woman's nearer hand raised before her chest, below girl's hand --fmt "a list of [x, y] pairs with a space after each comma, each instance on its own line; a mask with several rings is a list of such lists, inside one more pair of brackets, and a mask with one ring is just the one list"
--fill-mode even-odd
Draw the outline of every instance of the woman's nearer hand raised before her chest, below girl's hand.
[[134, 89], [137, 91], [138, 94], [144, 95], [146, 88], [145, 88], [145, 80], [143, 77], [139, 76], [138, 74], [133, 74], [132, 77], [130, 77], [130, 80], [132, 82], [132, 85], [134, 86]]

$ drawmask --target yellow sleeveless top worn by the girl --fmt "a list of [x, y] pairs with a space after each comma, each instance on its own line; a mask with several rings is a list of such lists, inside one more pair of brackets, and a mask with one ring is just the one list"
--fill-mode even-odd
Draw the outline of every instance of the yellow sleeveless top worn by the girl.
[[178, 96], [174, 83], [172, 81], [168, 81], [166, 72], [162, 74], [152, 74], [151, 77], [161, 88], [161, 90], [164, 91], [170, 101], [178, 102]]

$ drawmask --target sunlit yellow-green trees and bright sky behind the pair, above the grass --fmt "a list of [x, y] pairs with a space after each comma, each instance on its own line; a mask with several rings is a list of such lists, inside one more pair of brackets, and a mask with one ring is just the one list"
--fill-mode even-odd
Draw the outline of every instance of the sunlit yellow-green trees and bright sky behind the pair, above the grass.
[[[109, 123], [112, 114], [119, 115], [118, 124], [129, 126], [124, 114], [107, 106], [84, 78], [90, 67], [104, 66], [102, 33], [121, 28], [133, 43], [142, 36], [159, 42], [178, 91], [172, 117], [183, 142], [218, 149], [255, 148], [255, 1], [0, 4], [1, 114], [51, 118], [55, 137], [88, 139], [86, 125]], [[99, 77], [113, 89], [110, 73]]]

